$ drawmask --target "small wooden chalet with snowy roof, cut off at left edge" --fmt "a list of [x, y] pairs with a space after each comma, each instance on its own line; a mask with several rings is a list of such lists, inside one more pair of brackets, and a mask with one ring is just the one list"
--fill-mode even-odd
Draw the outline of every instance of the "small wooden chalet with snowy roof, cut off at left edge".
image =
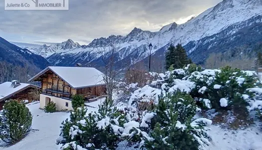
[[40, 90], [40, 87], [27, 83], [20, 83], [18, 80], [7, 81], [0, 84], [0, 109], [4, 104], [5, 100], [16, 99], [19, 102], [21, 100], [28, 100], [31, 102], [33, 99], [33, 90]]

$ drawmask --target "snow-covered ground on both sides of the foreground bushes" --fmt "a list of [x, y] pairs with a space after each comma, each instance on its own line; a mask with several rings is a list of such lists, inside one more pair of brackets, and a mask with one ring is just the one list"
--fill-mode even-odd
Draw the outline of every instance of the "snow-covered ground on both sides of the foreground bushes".
[[[88, 112], [96, 111], [101, 100], [90, 102]], [[27, 107], [33, 114], [31, 131], [24, 139], [9, 147], [0, 147], [4, 150], [53, 150], [59, 149], [55, 144], [60, 133], [61, 122], [69, 117], [69, 112], [45, 113], [39, 109], [39, 102], [29, 103]], [[96, 107], [96, 108], [94, 108]], [[253, 125], [244, 130], [227, 130], [220, 126], [210, 125], [209, 133], [213, 141], [206, 150], [262, 150], [262, 130], [258, 125]], [[4, 143], [2, 143], [4, 144]]]

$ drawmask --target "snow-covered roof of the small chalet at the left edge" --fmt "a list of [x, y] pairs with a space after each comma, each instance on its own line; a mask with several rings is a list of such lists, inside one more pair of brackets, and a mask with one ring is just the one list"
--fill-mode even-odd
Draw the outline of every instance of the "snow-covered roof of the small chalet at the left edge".
[[[2, 84], [0, 84], [0, 100], [6, 99], [14, 94], [16, 94], [17, 92], [26, 89], [29, 86], [35, 86], [32, 84], [27, 84], [27, 83], [20, 83], [20, 85], [16, 86], [15, 88], [13, 88], [11, 86], [12, 82], [4, 82]], [[38, 87], [38, 86], [35, 86]]]

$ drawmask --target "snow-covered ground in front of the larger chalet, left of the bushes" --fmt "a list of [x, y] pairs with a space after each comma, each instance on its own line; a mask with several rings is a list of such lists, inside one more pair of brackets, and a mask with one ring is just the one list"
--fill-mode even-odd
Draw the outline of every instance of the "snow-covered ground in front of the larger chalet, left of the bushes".
[[[98, 104], [104, 99], [90, 102], [89, 105], [98, 107]], [[26, 105], [33, 115], [31, 131], [25, 138], [18, 143], [9, 147], [0, 147], [4, 150], [54, 150], [59, 146], [55, 144], [56, 138], [60, 133], [60, 125], [63, 120], [69, 117], [70, 112], [45, 113], [39, 109], [39, 102], [29, 103]], [[97, 108], [88, 107], [88, 113], [96, 111]], [[3, 142], [1, 144], [4, 144]]]

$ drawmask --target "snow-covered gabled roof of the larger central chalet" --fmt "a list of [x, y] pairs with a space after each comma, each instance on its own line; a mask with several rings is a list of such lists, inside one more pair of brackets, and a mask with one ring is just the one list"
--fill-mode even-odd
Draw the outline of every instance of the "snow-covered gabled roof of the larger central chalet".
[[73, 88], [104, 85], [103, 73], [94, 67], [69, 67], [69, 66], [48, 66], [41, 72], [34, 75], [29, 81], [35, 80], [44, 72], [51, 70], [67, 82]]

